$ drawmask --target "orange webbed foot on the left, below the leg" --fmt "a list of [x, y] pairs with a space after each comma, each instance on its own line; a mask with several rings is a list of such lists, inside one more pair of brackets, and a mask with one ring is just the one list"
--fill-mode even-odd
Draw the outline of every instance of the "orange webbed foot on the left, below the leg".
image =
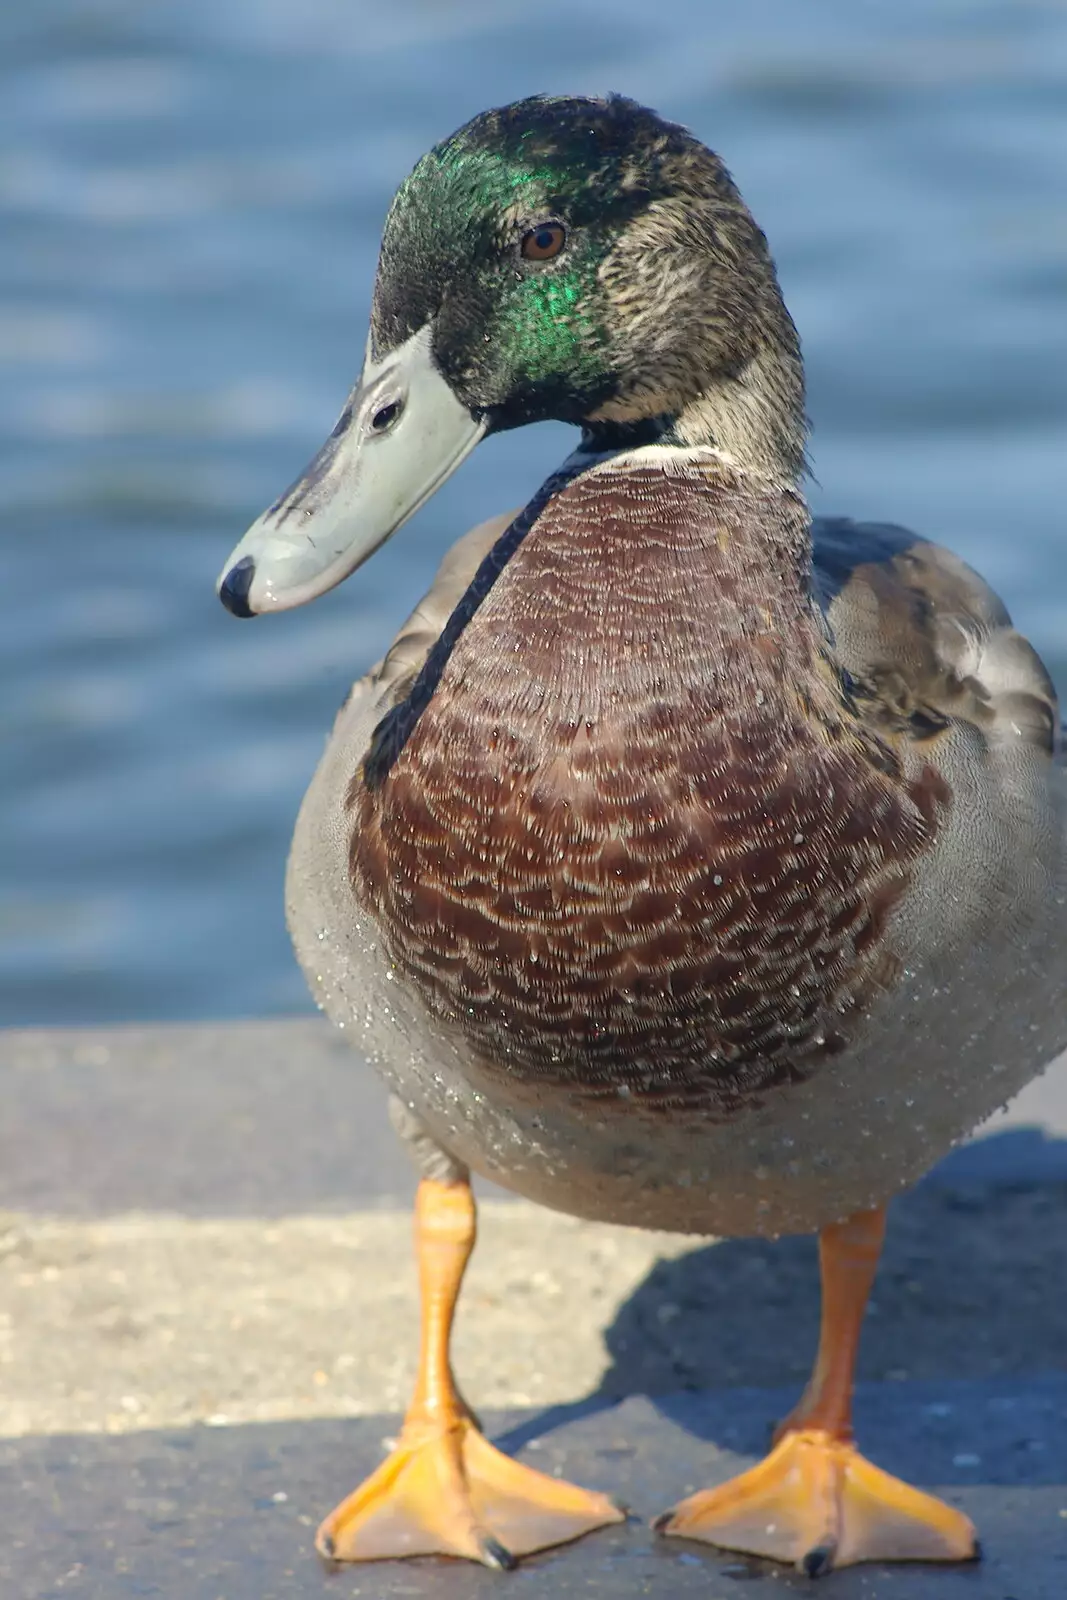
[[469, 1418], [405, 1429], [394, 1453], [322, 1523], [322, 1555], [374, 1562], [462, 1555], [510, 1568], [622, 1512], [606, 1494], [545, 1477], [502, 1454]]

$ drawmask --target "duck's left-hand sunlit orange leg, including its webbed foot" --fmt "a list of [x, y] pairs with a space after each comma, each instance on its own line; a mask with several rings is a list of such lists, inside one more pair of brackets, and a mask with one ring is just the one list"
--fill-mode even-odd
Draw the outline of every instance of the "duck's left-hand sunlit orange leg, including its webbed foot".
[[466, 1555], [514, 1566], [517, 1555], [622, 1522], [606, 1494], [533, 1472], [488, 1443], [448, 1358], [475, 1240], [470, 1186], [424, 1178], [414, 1214], [422, 1296], [414, 1397], [394, 1453], [322, 1523], [320, 1554], [339, 1562]]

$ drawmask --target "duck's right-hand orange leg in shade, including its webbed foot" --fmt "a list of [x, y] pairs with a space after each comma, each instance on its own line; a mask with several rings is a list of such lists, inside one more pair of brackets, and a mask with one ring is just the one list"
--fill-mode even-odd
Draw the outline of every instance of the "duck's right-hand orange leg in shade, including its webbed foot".
[[822, 1328], [811, 1381], [758, 1466], [691, 1494], [656, 1528], [726, 1550], [793, 1562], [809, 1578], [854, 1562], [966, 1562], [963, 1512], [865, 1461], [853, 1445], [853, 1373], [885, 1211], [819, 1235]]

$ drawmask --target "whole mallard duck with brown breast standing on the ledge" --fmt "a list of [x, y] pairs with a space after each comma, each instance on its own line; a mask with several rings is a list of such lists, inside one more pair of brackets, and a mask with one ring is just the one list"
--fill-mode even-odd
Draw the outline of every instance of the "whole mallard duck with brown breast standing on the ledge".
[[296, 822], [296, 955], [419, 1176], [414, 1394], [318, 1550], [510, 1568], [624, 1517], [462, 1397], [475, 1173], [605, 1222], [817, 1235], [803, 1395], [661, 1534], [809, 1576], [971, 1560], [958, 1507], [859, 1451], [853, 1371], [893, 1195], [1067, 1045], [1049, 675], [950, 550], [811, 517], [766, 238], [718, 155], [622, 96], [486, 110], [400, 184], [362, 376], [224, 605], [314, 600], [545, 419], [574, 453], [454, 544]]

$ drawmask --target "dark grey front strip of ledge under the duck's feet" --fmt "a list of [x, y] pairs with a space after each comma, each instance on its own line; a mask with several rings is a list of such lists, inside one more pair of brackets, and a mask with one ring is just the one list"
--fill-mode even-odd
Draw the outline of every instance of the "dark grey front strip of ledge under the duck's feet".
[[[0, 1442], [8, 1530], [0, 1594], [19, 1600], [515, 1600], [603, 1595], [769, 1600], [808, 1579], [661, 1541], [648, 1518], [763, 1450], [782, 1390], [632, 1398], [571, 1418], [490, 1418], [552, 1472], [619, 1494], [635, 1518], [514, 1574], [421, 1560], [328, 1571], [312, 1549], [323, 1507], [379, 1456], [389, 1419], [194, 1429], [122, 1438]], [[981, 1525], [985, 1558], [960, 1568], [851, 1568], [827, 1600], [1062, 1600], [1067, 1594], [1067, 1378], [875, 1386], [857, 1419], [878, 1461], [936, 1488]], [[555, 1426], [553, 1426], [555, 1424]], [[534, 1448], [537, 1446], [537, 1448]], [[638, 1520], [640, 1518], [640, 1520]]]

